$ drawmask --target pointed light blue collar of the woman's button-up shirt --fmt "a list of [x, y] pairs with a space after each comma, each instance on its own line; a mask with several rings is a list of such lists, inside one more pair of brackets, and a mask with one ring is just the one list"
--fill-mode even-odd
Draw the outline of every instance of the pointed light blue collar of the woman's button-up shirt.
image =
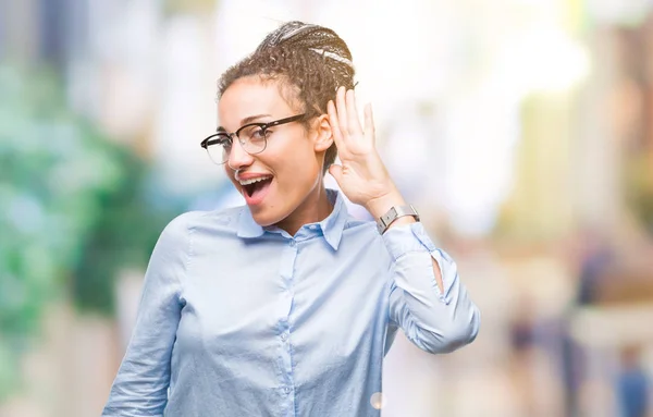
[[[348, 212], [344, 197], [340, 192], [326, 188], [326, 196], [333, 204], [333, 211], [331, 211], [331, 214], [329, 214], [326, 219], [318, 224], [322, 230], [326, 243], [329, 243], [334, 250], [337, 250], [343, 236], [343, 231], [345, 230]], [[255, 238], [262, 236], [263, 233], [266, 233], [266, 230], [254, 220], [249, 207], [244, 206], [238, 218], [237, 236], [243, 238]]]

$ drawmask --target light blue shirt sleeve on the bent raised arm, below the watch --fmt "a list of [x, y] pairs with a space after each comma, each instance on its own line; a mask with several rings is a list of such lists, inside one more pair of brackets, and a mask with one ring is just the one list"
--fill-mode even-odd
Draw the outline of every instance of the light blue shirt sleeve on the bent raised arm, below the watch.
[[[435, 247], [419, 222], [383, 234], [393, 260], [390, 324], [429, 353], [453, 352], [471, 343], [479, 331], [480, 311], [458, 278], [456, 262]], [[440, 291], [434, 259], [442, 273]]]

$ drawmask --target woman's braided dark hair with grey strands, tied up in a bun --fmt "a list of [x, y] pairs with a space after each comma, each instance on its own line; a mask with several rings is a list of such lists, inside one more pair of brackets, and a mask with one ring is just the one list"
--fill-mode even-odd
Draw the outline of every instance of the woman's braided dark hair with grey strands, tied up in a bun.
[[[344, 86], [354, 88], [352, 52], [332, 29], [303, 22], [288, 22], [266, 36], [248, 57], [227, 69], [218, 82], [218, 98], [236, 79], [259, 75], [281, 82], [303, 106], [308, 120], [326, 113], [326, 103]], [[294, 100], [287, 100], [293, 102]], [[335, 161], [335, 143], [326, 150], [324, 172]]]

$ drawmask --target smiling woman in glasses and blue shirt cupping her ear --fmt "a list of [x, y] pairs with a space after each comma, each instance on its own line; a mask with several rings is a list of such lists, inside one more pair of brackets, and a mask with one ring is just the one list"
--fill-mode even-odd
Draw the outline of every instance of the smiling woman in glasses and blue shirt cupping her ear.
[[[300, 22], [223, 74], [201, 145], [247, 205], [165, 228], [104, 416], [378, 416], [398, 328], [431, 353], [476, 338], [456, 265], [387, 175], [353, 88], [345, 42]], [[349, 217], [326, 170], [383, 220]]]

